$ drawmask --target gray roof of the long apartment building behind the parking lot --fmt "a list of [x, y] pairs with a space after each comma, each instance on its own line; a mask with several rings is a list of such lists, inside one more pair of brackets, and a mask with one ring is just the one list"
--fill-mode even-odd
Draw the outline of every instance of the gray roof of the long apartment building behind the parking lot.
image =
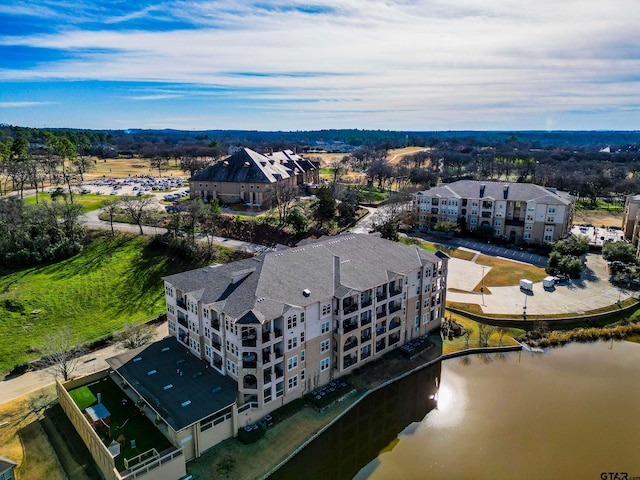
[[[484, 189], [482, 188], [484, 186]], [[505, 192], [505, 187], [508, 189]], [[481, 195], [483, 193], [483, 195]], [[533, 183], [487, 182], [479, 180], [459, 180], [445, 183], [418, 194], [429, 197], [444, 198], [486, 198], [492, 200], [506, 199], [516, 202], [536, 200], [538, 203], [571, 204], [570, 196], [564, 192], [554, 192]]]

